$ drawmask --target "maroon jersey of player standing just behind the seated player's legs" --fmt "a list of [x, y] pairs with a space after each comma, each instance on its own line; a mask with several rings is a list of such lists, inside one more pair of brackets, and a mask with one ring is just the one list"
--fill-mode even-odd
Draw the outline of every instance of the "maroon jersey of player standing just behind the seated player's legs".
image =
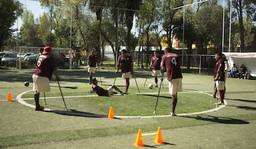
[[127, 55], [126, 57], [121, 55], [117, 59], [117, 66], [121, 64], [122, 73], [132, 71], [132, 63], [132, 56], [129, 55]]

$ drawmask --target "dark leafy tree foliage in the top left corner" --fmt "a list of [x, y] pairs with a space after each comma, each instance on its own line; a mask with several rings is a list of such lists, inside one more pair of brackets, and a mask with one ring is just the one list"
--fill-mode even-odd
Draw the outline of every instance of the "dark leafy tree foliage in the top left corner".
[[0, 50], [14, 30], [11, 27], [15, 20], [22, 14], [22, 4], [14, 0], [0, 1]]

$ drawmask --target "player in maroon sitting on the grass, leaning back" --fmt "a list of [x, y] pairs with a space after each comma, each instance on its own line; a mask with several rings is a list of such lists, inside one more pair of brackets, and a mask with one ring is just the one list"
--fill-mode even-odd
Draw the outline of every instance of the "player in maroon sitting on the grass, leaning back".
[[[114, 94], [117, 94], [117, 92], [120, 92], [121, 95], [124, 95], [124, 93], [119, 90], [118, 87], [116, 87], [116, 85], [111, 85], [108, 89], [104, 89], [100, 86], [98, 86], [98, 81], [97, 79], [94, 77], [92, 79], [92, 88], [93, 88], [93, 91], [99, 95], [99, 96], [109, 96], [109, 95], [114, 95]], [[117, 91], [117, 92], [113, 92], [113, 88]]]

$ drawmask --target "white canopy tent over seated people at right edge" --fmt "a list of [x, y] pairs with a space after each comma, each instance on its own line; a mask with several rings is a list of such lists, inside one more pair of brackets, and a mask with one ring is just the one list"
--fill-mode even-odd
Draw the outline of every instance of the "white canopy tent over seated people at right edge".
[[252, 77], [256, 77], [256, 53], [223, 53], [228, 59], [229, 69], [235, 63], [237, 68], [244, 64]]

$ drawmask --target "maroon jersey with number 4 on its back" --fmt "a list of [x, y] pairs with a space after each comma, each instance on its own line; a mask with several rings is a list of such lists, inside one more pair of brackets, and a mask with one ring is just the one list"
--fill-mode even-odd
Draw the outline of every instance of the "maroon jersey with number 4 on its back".
[[164, 54], [161, 61], [161, 66], [166, 67], [168, 80], [182, 78], [181, 62], [179, 56], [175, 53]]

